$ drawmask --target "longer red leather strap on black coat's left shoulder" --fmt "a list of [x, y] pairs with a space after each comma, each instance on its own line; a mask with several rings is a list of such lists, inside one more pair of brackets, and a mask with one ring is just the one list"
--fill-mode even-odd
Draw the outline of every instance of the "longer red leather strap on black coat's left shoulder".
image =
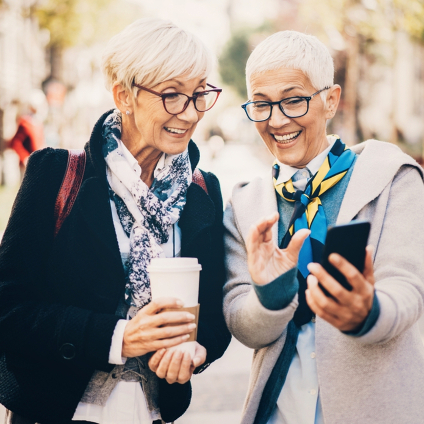
[[68, 164], [66, 165], [65, 176], [56, 197], [54, 206], [54, 237], [60, 230], [63, 221], [68, 217], [74, 205], [75, 199], [81, 187], [84, 169], [86, 168], [86, 151], [80, 149], [70, 149], [68, 151]]

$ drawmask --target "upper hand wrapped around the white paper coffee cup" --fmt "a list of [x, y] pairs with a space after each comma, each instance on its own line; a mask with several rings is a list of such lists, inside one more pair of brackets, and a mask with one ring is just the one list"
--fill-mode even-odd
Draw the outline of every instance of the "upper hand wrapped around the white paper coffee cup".
[[195, 315], [189, 312], [162, 312], [162, 309], [182, 306], [183, 303], [178, 299], [158, 298], [141, 308], [126, 324], [122, 356], [142, 356], [185, 342], [189, 333], [196, 328], [196, 324], [192, 322]]

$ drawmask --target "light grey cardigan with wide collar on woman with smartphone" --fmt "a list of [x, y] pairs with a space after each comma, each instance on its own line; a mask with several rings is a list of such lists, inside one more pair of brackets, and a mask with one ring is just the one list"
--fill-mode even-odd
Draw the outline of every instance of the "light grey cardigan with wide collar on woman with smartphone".
[[[337, 223], [371, 221], [380, 314], [366, 334], [346, 335], [317, 317], [315, 351], [326, 424], [419, 424], [424, 420], [424, 184], [421, 167], [398, 147], [368, 140], [358, 155]], [[271, 175], [235, 187], [224, 214], [229, 330], [255, 349], [242, 424], [255, 420], [261, 395], [298, 305], [266, 309], [251, 287], [245, 239], [249, 227], [277, 210]], [[277, 225], [273, 238], [278, 243]]]

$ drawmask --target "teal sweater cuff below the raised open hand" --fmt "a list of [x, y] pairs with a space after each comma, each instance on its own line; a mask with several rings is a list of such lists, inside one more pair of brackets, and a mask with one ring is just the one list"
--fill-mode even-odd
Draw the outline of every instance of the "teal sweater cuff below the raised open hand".
[[299, 290], [297, 274], [298, 268], [294, 267], [268, 284], [259, 285], [252, 283], [262, 306], [271, 311], [288, 306]]

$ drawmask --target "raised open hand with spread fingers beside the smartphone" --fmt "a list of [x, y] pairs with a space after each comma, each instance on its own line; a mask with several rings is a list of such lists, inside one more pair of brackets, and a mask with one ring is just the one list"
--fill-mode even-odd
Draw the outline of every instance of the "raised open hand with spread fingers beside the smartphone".
[[267, 284], [298, 263], [299, 252], [310, 230], [293, 234], [289, 245], [280, 249], [272, 240], [272, 226], [278, 221], [276, 212], [252, 225], [246, 240], [247, 265], [256, 284]]

